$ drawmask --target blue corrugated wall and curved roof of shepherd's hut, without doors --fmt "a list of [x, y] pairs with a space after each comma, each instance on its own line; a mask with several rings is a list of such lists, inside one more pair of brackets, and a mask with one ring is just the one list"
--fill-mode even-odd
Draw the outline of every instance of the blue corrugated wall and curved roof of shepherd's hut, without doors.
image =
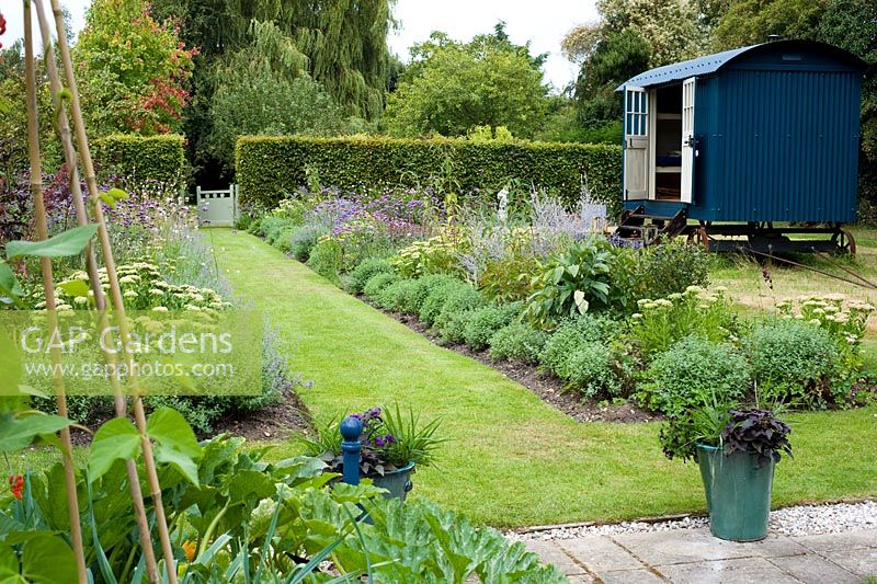
[[840, 48], [781, 41], [641, 73], [648, 90], [696, 78], [694, 201], [629, 201], [704, 221], [850, 222], [856, 214], [865, 64]]

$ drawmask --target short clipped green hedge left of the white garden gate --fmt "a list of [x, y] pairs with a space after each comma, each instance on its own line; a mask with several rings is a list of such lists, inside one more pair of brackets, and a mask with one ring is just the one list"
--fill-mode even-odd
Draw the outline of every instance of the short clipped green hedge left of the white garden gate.
[[158, 182], [179, 191], [185, 179], [185, 138], [179, 134], [112, 134], [93, 144], [98, 173], [122, 174], [138, 184]]

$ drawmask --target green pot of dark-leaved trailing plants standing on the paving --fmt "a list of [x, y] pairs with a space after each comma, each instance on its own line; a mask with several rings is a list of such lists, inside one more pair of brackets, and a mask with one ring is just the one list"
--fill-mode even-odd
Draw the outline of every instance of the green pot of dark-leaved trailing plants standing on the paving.
[[774, 467], [791, 456], [791, 428], [773, 411], [703, 408], [661, 430], [669, 458], [696, 459], [714, 536], [756, 541], [767, 536]]

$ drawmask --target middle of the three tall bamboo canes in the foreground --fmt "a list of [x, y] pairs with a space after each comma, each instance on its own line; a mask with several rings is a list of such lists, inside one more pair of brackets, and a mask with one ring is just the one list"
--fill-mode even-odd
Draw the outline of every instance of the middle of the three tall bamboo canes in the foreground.
[[[70, 192], [73, 198], [73, 207], [76, 208], [77, 220], [80, 226], [88, 224], [88, 214], [86, 205], [82, 199], [82, 191], [79, 184], [79, 172], [77, 165], [76, 150], [72, 144], [72, 133], [70, 131], [70, 124], [67, 113], [64, 110], [64, 104], [59, 99], [62, 89], [60, 77], [58, 75], [57, 66], [55, 65], [55, 56], [52, 46], [52, 37], [48, 32], [48, 23], [42, 10], [39, 0], [34, 0], [36, 4], [37, 18], [39, 20], [39, 28], [43, 36], [43, 45], [45, 50], [46, 70], [48, 72], [49, 82], [52, 85], [52, 93], [55, 106], [58, 108], [57, 126], [58, 134], [61, 138], [64, 146], [64, 156], [67, 167], [69, 169]], [[99, 313], [99, 327], [101, 330], [106, 327], [106, 298], [101, 287], [100, 276], [98, 273], [98, 262], [94, 254], [94, 249], [91, 243], [86, 248], [86, 264], [89, 273], [89, 280], [91, 282], [92, 291], [94, 294], [94, 305]], [[113, 398], [115, 405], [115, 413], [119, 417], [127, 417], [127, 404], [122, 386], [118, 379], [118, 368], [114, 367], [116, 364], [115, 356], [112, 353], [104, 352], [104, 357], [107, 364], [111, 365], [113, 375], [111, 376], [111, 383], [113, 387]], [[149, 529], [149, 519], [146, 516], [146, 506], [144, 504], [143, 492], [140, 490], [140, 479], [137, 472], [137, 462], [127, 460], [126, 470], [128, 474], [128, 489], [130, 491], [132, 504], [137, 519], [137, 526], [140, 535], [140, 548], [144, 552], [144, 564], [146, 568], [146, 575], [149, 582], [159, 582], [158, 566], [156, 564], [156, 556], [152, 550], [152, 536]]]

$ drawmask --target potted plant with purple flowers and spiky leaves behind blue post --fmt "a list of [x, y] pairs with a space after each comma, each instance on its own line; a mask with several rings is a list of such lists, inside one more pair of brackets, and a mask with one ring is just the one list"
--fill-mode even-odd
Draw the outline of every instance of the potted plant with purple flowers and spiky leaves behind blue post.
[[[360, 477], [386, 489], [385, 496], [405, 501], [413, 486], [415, 468], [432, 465], [436, 447], [445, 442], [436, 435], [440, 421], [421, 423], [419, 415], [410, 410], [403, 414], [398, 404], [392, 410], [372, 408], [350, 417], [362, 422]], [[341, 420], [319, 424], [315, 437], [301, 437], [304, 454], [322, 459], [328, 472], [343, 471]]]

